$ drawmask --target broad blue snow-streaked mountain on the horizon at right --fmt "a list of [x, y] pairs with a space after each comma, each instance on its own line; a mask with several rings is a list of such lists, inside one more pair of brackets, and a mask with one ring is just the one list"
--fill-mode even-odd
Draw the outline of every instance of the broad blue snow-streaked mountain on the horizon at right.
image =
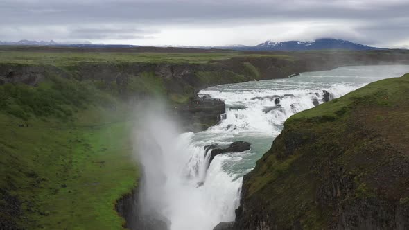
[[373, 50], [379, 49], [376, 47], [365, 46], [354, 42], [345, 41], [342, 39], [322, 38], [311, 42], [288, 41], [288, 42], [273, 42], [266, 41], [257, 46], [258, 50], [263, 51], [308, 51], [308, 50], [324, 50], [324, 49], [342, 49], [342, 50]]

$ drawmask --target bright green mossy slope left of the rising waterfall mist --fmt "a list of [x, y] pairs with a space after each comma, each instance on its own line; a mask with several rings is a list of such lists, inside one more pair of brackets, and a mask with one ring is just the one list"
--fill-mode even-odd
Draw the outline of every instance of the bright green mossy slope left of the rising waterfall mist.
[[136, 186], [130, 108], [87, 82], [0, 86], [0, 229], [122, 229]]

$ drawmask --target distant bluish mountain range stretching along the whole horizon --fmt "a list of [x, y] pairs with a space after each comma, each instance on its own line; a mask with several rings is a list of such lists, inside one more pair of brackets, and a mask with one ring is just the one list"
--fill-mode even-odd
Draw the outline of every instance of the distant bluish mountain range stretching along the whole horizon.
[[[21, 40], [19, 42], [1, 42], [0, 45], [24, 45], [24, 46], [71, 46], [71, 47], [86, 47], [86, 48], [130, 48], [138, 47], [134, 45], [111, 45], [111, 44], [60, 44], [50, 40], [49, 42], [44, 41], [29, 41]], [[175, 46], [166, 46], [166, 47], [175, 47]], [[354, 50], [354, 51], [363, 51], [363, 50], [375, 50], [382, 49], [372, 46], [365, 46], [363, 44], [358, 44], [354, 42], [349, 42], [342, 39], [333, 39], [333, 38], [321, 38], [316, 39], [311, 42], [303, 41], [287, 41], [287, 42], [274, 42], [268, 40], [256, 46], [244, 46], [244, 45], [228, 45], [228, 46], [177, 46], [181, 48], [219, 48], [219, 49], [231, 49], [236, 51], [311, 51], [311, 50]]]

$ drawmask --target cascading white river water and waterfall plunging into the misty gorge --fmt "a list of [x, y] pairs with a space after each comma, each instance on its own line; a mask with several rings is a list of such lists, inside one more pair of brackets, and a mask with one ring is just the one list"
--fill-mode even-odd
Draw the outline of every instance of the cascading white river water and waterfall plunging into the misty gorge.
[[[409, 66], [342, 67], [279, 80], [220, 85], [200, 91], [224, 100], [223, 120], [204, 132], [178, 134], [162, 112], [143, 119], [137, 145], [146, 174], [143, 206], [165, 217], [172, 230], [209, 230], [233, 221], [242, 177], [270, 148], [291, 115], [323, 102], [323, 91], [338, 98], [382, 78], [399, 77]], [[279, 105], [277, 106], [277, 99]], [[139, 132], [140, 133], [140, 132]], [[220, 154], [209, 163], [204, 146], [247, 141], [252, 149]]]

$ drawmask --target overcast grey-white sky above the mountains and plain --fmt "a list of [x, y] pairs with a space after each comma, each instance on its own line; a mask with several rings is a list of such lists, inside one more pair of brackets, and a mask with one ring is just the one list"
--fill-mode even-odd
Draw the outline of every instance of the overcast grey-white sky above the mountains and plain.
[[0, 0], [0, 41], [253, 46], [320, 37], [409, 48], [409, 0]]

